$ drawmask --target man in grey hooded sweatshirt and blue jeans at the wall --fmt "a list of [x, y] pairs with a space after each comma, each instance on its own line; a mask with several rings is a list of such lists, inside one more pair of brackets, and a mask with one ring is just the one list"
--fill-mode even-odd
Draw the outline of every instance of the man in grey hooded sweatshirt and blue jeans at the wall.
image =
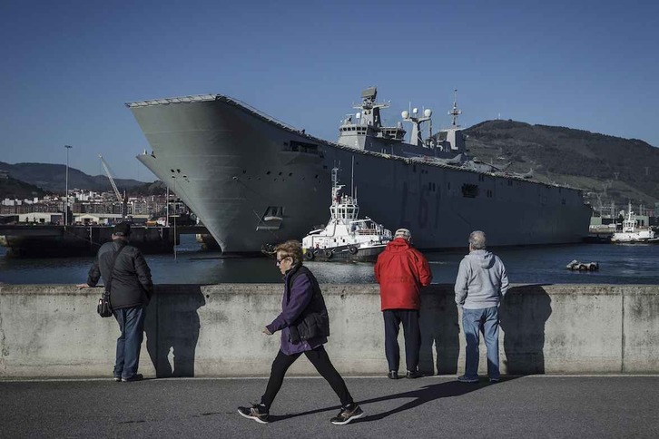
[[497, 255], [487, 251], [485, 233], [472, 231], [469, 254], [460, 261], [456, 278], [456, 303], [462, 307], [462, 329], [467, 338], [465, 375], [462, 383], [478, 382], [478, 342], [483, 332], [487, 347], [487, 375], [490, 383], [499, 380], [500, 300], [506, 296], [508, 276]]

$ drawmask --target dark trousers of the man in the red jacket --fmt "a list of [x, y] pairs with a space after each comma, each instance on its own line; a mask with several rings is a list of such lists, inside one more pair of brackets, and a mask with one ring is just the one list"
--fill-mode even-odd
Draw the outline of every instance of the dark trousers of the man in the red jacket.
[[408, 370], [416, 371], [418, 366], [418, 349], [421, 346], [421, 329], [418, 326], [417, 309], [385, 309], [382, 311], [385, 321], [385, 354], [389, 370], [398, 371], [400, 349], [398, 348], [398, 328], [403, 324], [405, 337], [405, 362]]

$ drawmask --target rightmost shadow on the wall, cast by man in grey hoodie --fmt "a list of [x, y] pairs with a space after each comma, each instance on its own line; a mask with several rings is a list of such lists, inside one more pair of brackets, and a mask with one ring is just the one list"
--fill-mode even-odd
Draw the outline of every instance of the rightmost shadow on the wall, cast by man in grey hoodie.
[[502, 369], [508, 375], [545, 373], [545, 324], [551, 298], [542, 285], [510, 288], [499, 307], [504, 337]]

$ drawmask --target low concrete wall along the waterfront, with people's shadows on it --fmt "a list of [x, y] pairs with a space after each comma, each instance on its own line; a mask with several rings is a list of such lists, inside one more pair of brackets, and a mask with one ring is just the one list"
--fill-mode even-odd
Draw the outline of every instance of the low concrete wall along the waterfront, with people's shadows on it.
[[[345, 375], [383, 375], [377, 285], [322, 285], [330, 358]], [[148, 308], [146, 376], [267, 376], [280, 334], [278, 284], [160, 285]], [[0, 286], [0, 376], [109, 376], [119, 335], [96, 315], [101, 288]], [[504, 374], [659, 373], [659, 286], [514, 286], [500, 308]], [[420, 369], [464, 370], [461, 312], [450, 285], [423, 292]], [[401, 371], [405, 368], [402, 331]], [[480, 371], [486, 373], [481, 342]], [[301, 358], [290, 374], [315, 374]]]

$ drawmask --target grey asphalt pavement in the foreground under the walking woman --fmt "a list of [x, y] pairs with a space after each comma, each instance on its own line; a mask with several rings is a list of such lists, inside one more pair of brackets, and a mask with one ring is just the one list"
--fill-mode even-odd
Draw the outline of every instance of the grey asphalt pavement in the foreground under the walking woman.
[[0, 381], [0, 437], [659, 437], [659, 376], [346, 378], [367, 416], [330, 424], [320, 378], [287, 377], [270, 424], [236, 413], [266, 380]]

